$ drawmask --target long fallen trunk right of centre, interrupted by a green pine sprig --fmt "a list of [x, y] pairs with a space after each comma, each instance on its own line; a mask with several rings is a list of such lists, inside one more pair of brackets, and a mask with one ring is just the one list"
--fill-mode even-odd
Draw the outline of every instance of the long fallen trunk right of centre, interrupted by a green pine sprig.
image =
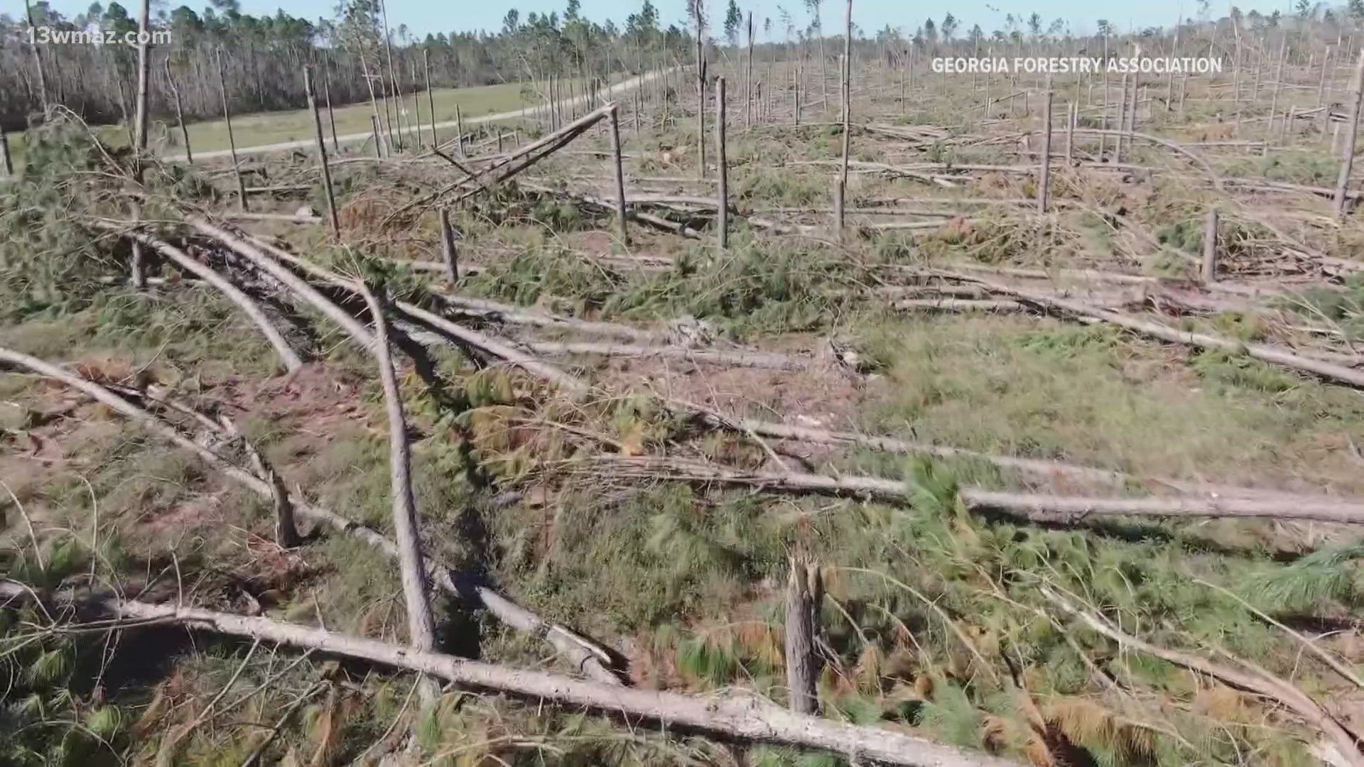
[[[906, 482], [880, 476], [835, 478], [820, 474], [741, 471], [709, 463], [653, 456], [596, 456], [591, 463], [625, 476], [746, 484], [787, 493], [855, 495], [891, 504], [913, 502], [913, 493]], [[1364, 502], [1329, 498], [1086, 498], [970, 487], [963, 487], [959, 494], [973, 510], [1000, 512], [1011, 517], [1041, 523], [1073, 524], [1088, 517], [1139, 516], [1281, 519], [1364, 524]]]

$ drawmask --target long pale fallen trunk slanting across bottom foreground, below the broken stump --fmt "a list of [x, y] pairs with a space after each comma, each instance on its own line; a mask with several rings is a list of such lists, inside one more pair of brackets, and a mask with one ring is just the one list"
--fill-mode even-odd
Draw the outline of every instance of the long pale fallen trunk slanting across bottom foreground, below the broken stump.
[[[31, 599], [34, 590], [18, 581], [0, 580], [0, 598], [5, 602]], [[196, 631], [246, 636], [408, 669], [461, 686], [506, 692], [532, 703], [548, 701], [572, 708], [591, 708], [626, 719], [644, 719], [660, 725], [664, 730], [698, 730], [726, 738], [814, 748], [847, 756], [854, 762], [866, 759], [918, 767], [1019, 767], [1015, 762], [966, 752], [907, 733], [794, 714], [750, 695], [682, 695], [611, 686], [543, 671], [465, 661], [269, 618], [250, 618], [175, 605], [150, 605], [113, 596], [95, 596], [85, 602], [85, 606], [135, 621], [177, 624]]]

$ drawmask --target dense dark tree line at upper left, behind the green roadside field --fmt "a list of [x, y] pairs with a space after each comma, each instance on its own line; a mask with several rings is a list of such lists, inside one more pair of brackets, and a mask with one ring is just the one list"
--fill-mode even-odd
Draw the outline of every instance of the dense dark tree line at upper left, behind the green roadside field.
[[[498, 31], [428, 34], [419, 40], [400, 25], [390, 29], [382, 0], [342, 0], [336, 18], [310, 20], [252, 16], [237, 0], [209, 0], [195, 12], [180, 5], [161, 12], [153, 27], [170, 42], [153, 50], [153, 115], [172, 116], [172, 82], [188, 120], [222, 115], [224, 91], [233, 113], [299, 108], [306, 104], [303, 67], [315, 67], [318, 89], [333, 102], [367, 101], [426, 86], [430, 61], [434, 87], [521, 82], [528, 98], [543, 98], [557, 78], [607, 78], [677, 57], [686, 60], [693, 40], [678, 26], [663, 27], [644, 0], [623, 26], [596, 23], [569, 0], [563, 14], [506, 14]], [[30, 44], [34, 29], [136, 31], [136, 10], [117, 1], [93, 3], [65, 18], [46, 0], [26, 18], [0, 15], [0, 123], [23, 127], [46, 104], [61, 104], [91, 123], [127, 120], [134, 112], [136, 48], [131, 45]], [[222, 79], [218, 61], [222, 63]], [[319, 97], [322, 94], [319, 93]]]

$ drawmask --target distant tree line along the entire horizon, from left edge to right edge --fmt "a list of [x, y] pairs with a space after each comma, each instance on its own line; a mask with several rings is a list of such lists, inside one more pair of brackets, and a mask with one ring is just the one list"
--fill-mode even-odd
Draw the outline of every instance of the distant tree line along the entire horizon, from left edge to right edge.
[[[711, 14], [702, 10], [705, 0], [689, 0], [689, 18], [667, 26], [651, 0], [642, 0], [638, 12], [619, 26], [587, 19], [580, 12], [580, 0], [567, 0], [562, 14], [531, 12], [522, 18], [510, 10], [499, 30], [428, 34], [421, 40], [402, 25], [389, 27], [383, 0], [341, 0], [334, 18], [316, 20], [284, 11], [252, 16], [240, 12], [237, 0], [209, 0], [202, 12], [180, 5], [161, 11], [153, 20], [154, 29], [170, 33], [170, 42], [153, 52], [151, 112], [161, 119], [173, 117], [172, 83], [188, 120], [221, 116], [224, 98], [233, 113], [299, 108], [306, 104], [301, 70], [310, 64], [315, 67], [319, 90], [327, 91], [333, 102], [383, 98], [424, 87], [424, 59], [430, 61], [435, 87], [520, 82], [528, 102], [533, 102], [550, 94], [557, 78], [581, 82], [692, 64], [697, 29], [711, 46], [707, 57], [731, 63], [735, 59], [727, 59], [730, 49], [746, 45], [750, 34], [768, 40], [756, 45], [760, 60], [817, 57], [825, 72], [829, 57], [842, 49], [837, 35], [829, 37], [837, 42], [825, 45], [821, 0], [799, 0], [807, 14], [803, 26], [782, 5], [773, 19], [745, 14], [737, 0], [711, 1], [726, 3], [724, 12], [715, 14], [722, 20], [715, 30], [720, 37], [711, 37], [707, 23]], [[1196, 0], [1195, 16], [1181, 19], [1180, 29], [1150, 27], [1127, 34], [1101, 20], [1095, 34], [1073, 35], [1065, 22], [1048, 22], [1039, 14], [1007, 14], [1004, 26], [992, 33], [979, 25], [963, 30], [951, 12], [940, 20], [922, 22], [913, 33], [887, 25], [868, 37], [854, 25], [853, 34], [858, 57], [884, 57], [896, 64], [944, 53], [985, 53], [988, 46], [998, 52], [1026, 50], [1101, 38], [1108, 42], [1146, 38], [1169, 45], [1181, 30], [1184, 40], [1189, 40], [1199, 30], [1211, 30], [1217, 38], [1219, 29], [1279, 27], [1296, 30], [1300, 38], [1311, 33], [1334, 42], [1342, 29], [1353, 30], [1361, 19], [1364, 0], [1348, 0], [1338, 8], [1297, 0], [1296, 11], [1289, 15], [1243, 14], [1232, 7], [1228, 16], [1217, 20], [1210, 19], [1210, 0]], [[46, 0], [26, 4], [26, 18], [0, 14], [0, 124], [20, 128], [42, 112], [45, 102], [65, 105], [93, 123], [125, 121], [132, 115], [135, 48], [33, 46], [30, 27], [121, 35], [135, 31], [138, 25], [134, 14], [117, 1], [108, 5], [95, 1], [74, 18], [53, 11]]]

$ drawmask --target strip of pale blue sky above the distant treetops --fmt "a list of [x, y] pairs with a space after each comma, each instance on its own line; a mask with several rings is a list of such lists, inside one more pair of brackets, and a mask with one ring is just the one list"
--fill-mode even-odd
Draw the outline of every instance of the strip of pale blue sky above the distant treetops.
[[[108, 0], [105, 0], [108, 1]], [[120, 0], [125, 7], [134, 5], [138, 0]], [[273, 14], [276, 8], [284, 8], [289, 14], [315, 19], [318, 16], [330, 18], [334, 15], [336, 0], [240, 0], [246, 12]], [[719, 26], [728, 0], [705, 0], [711, 11], [711, 18]], [[52, 5], [65, 15], [75, 15], [90, 5], [90, 0], [50, 0]], [[203, 0], [154, 0], [155, 4], [177, 7], [181, 3], [199, 10], [206, 3]], [[471, 29], [499, 29], [502, 16], [510, 8], [521, 11], [521, 16], [531, 11], [550, 12], [563, 10], [567, 0], [443, 0], [432, 3], [430, 0], [389, 0], [389, 22], [397, 27], [406, 25], [415, 33], [426, 34], [450, 30]], [[588, 18], [602, 20], [614, 19], [618, 23], [629, 14], [637, 11], [642, 0], [582, 0], [582, 14]], [[1243, 0], [1236, 3], [1243, 11], [1259, 10], [1271, 14], [1275, 10], [1290, 12], [1290, 0], [1256, 1]], [[681, 22], [686, 16], [685, 0], [655, 0], [659, 14], [664, 22]], [[772, 18], [773, 30], [780, 27], [777, 22], [777, 8], [784, 7], [797, 20], [803, 25], [807, 14], [803, 0], [739, 0], [739, 7], [753, 11], [754, 19]], [[843, 25], [846, 5], [840, 0], [824, 0], [822, 16], [825, 30], [835, 30]], [[1213, 14], [1222, 16], [1230, 8], [1229, 3], [1214, 0]], [[1109, 19], [1116, 27], [1125, 30], [1128, 26], [1169, 26], [1174, 23], [1180, 12], [1192, 15], [1196, 12], [1195, 0], [1150, 0], [1136, 4], [1108, 4], [1082, 0], [963, 0], [960, 3], [928, 4], [910, 3], [907, 0], [854, 0], [853, 22], [863, 30], [878, 30], [887, 25], [904, 27], [913, 31], [930, 14], [934, 20], [941, 20], [947, 11], [951, 11], [962, 20], [962, 31], [971, 29], [971, 25], [981, 25], [986, 33], [1004, 27], [1005, 14], [1027, 16], [1031, 12], [1042, 14], [1046, 23], [1052, 19], [1064, 19], [1075, 33], [1090, 33], [1094, 22], [1099, 18]], [[0, 14], [14, 18], [23, 15], [23, 0], [0, 0]], [[761, 22], [756, 22], [761, 26]]]

